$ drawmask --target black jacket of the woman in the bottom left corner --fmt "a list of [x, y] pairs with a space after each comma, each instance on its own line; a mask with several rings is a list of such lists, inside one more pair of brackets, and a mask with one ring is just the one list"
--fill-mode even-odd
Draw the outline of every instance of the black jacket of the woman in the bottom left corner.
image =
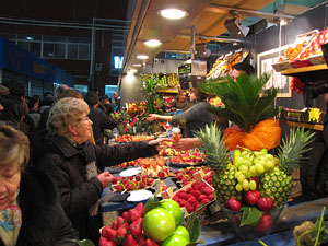
[[59, 203], [54, 183], [43, 172], [33, 167], [23, 172], [19, 204], [23, 223], [16, 246], [78, 246], [72, 242], [78, 232]]

